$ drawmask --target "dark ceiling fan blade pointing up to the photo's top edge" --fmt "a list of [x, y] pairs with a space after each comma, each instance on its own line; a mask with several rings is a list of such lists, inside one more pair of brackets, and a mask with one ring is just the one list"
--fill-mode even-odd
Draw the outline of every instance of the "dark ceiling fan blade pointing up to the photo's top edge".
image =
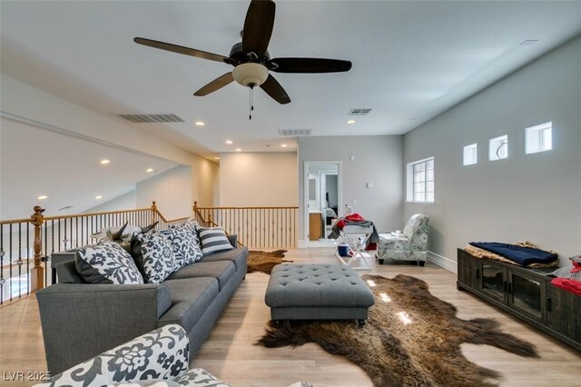
[[248, 7], [244, 29], [242, 30], [242, 49], [261, 57], [266, 53], [271, 41], [276, 5], [271, 0], [252, 0]]

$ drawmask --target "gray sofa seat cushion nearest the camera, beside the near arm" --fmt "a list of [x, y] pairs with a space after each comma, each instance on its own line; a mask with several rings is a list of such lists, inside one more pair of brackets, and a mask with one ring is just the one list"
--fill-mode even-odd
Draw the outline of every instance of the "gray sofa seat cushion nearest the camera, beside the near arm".
[[163, 284], [172, 291], [172, 307], [162, 315], [157, 325], [178, 323], [186, 332], [198, 323], [220, 291], [218, 280], [209, 277], [165, 280]]

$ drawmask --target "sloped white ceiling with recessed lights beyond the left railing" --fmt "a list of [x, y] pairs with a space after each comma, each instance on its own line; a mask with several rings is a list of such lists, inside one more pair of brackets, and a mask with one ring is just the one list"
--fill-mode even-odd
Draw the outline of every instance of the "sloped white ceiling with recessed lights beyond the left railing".
[[[83, 213], [178, 164], [2, 118], [0, 219]], [[44, 144], [51, 144], [45, 148]], [[101, 160], [111, 163], [102, 165]], [[147, 173], [148, 168], [156, 170]], [[38, 200], [40, 195], [48, 196]], [[100, 200], [95, 196], [103, 196]], [[64, 206], [73, 208], [59, 211]]]

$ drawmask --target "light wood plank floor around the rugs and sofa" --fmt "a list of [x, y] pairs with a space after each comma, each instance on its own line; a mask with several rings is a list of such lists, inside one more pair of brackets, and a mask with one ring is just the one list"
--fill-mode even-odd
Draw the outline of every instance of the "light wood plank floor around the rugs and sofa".
[[[296, 249], [286, 258], [295, 263], [336, 263], [332, 249]], [[405, 273], [429, 284], [430, 292], [458, 307], [458, 317], [492, 317], [506, 332], [533, 342], [541, 359], [527, 359], [486, 345], [464, 344], [468, 359], [504, 374], [502, 386], [581, 386], [581, 352], [557, 342], [545, 333], [456, 290], [456, 274], [427, 263], [378, 265], [369, 260], [375, 273], [393, 277]], [[287, 386], [306, 381], [323, 386], [370, 386], [369, 378], [356, 365], [322, 351], [315, 344], [290, 349], [267, 349], [253, 343], [261, 336], [270, 310], [264, 303], [269, 276], [251, 273], [241, 283], [231, 303], [214, 327], [192, 367], [202, 367], [233, 387]], [[6, 382], [7, 372], [46, 370], [44, 346], [34, 296], [0, 308], [0, 385], [31, 385]]]

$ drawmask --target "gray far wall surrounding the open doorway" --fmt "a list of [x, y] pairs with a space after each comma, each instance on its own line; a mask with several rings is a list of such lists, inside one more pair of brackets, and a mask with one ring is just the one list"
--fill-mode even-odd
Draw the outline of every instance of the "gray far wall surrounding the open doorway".
[[[350, 160], [355, 156], [355, 161]], [[379, 233], [402, 227], [402, 136], [299, 137], [299, 239], [304, 238], [304, 162], [340, 161], [343, 205], [376, 224]], [[373, 183], [374, 188], [367, 188]], [[342, 215], [342, 209], [339, 209]]]

